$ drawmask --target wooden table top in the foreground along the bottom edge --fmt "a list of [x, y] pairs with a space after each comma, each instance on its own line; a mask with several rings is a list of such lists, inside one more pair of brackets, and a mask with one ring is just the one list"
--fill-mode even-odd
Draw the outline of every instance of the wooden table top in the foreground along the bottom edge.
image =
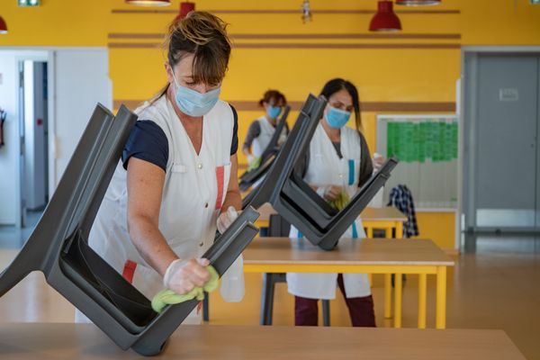
[[[0, 325], [0, 358], [141, 359], [92, 324]], [[162, 359], [523, 360], [502, 330], [184, 325]]]

